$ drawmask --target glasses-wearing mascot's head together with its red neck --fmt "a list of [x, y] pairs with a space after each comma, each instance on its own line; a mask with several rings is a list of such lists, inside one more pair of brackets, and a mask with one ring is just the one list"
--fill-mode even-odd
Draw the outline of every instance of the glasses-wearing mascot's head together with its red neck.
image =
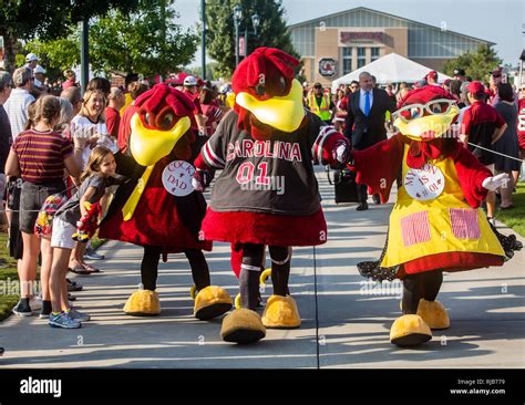
[[406, 164], [420, 168], [439, 156], [452, 156], [457, 142], [451, 138], [451, 124], [460, 114], [454, 96], [435, 85], [409, 92], [392, 115], [393, 125], [410, 144]]

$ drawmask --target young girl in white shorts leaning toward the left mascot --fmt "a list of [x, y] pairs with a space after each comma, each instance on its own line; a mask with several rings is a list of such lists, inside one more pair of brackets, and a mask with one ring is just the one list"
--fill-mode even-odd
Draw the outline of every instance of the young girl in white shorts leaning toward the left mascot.
[[53, 312], [49, 316], [50, 326], [80, 328], [81, 322], [89, 321], [90, 315], [75, 311], [69, 305], [65, 276], [71, 250], [74, 247], [73, 233], [76, 221], [86, 215], [84, 202], [97, 202], [105, 189], [115, 184], [115, 158], [110, 149], [96, 146], [90, 156], [87, 166], [82, 174], [76, 194], [58, 211], [53, 219], [51, 247], [53, 264], [51, 267], [50, 290]]

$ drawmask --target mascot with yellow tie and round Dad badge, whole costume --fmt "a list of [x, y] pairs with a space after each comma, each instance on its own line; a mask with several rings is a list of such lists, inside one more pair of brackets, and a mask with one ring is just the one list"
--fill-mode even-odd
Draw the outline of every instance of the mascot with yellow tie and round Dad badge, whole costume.
[[194, 104], [178, 90], [157, 84], [131, 107], [135, 113], [122, 124], [119, 136], [127, 139], [124, 146], [131, 156], [115, 155], [117, 172], [131, 180], [119, 188], [100, 229], [103, 238], [144, 247], [142, 289], [130, 297], [124, 312], [158, 314], [155, 289], [159, 258], [184, 252], [198, 291], [195, 316], [218, 316], [231, 308], [231, 298], [210, 285], [202, 250], [212, 250], [212, 242], [198, 239], [206, 201], [200, 191], [191, 188], [195, 169], [187, 160], [192, 159], [195, 141], [189, 128]]

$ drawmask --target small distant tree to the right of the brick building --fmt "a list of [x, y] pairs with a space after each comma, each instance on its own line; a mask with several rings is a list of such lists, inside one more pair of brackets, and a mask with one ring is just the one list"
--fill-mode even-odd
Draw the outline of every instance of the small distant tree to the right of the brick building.
[[461, 68], [473, 80], [488, 82], [491, 72], [501, 63], [502, 60], [492, 46], [480, 45], [476, 52], [465, 52], [456, 59], [446, 61], [443, 65], [443, 72], [449, 76], [453, 76], [454, 69]]

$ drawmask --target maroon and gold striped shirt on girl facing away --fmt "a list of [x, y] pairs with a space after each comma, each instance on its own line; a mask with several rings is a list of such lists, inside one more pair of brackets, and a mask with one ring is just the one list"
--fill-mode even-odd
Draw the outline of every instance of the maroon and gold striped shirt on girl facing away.
[[73, 144], [56, 132], [24, 131], [12, 145], [21, 177], [34, 184], [62, 180], [64, 159], [73, 153]]

